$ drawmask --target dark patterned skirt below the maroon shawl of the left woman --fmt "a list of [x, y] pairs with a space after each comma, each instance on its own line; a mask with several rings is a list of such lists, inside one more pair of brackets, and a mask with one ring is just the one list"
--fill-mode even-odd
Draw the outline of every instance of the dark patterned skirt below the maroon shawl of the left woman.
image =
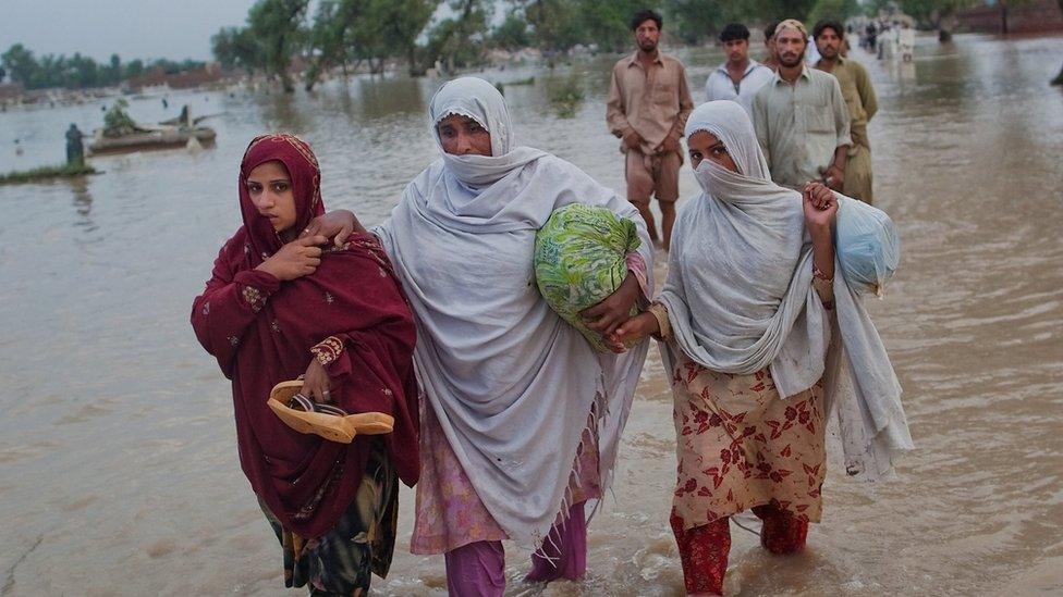
[[335, 526], [306, 540], [284, 528], [259, 500], [284, 552], [284, 585], [309, 585], [314, 596], [359, 596], [369, 592], [370, 573], [388, 575], [399, 517], [399, 474], [382, 441], [375, 441], [365, 475]]

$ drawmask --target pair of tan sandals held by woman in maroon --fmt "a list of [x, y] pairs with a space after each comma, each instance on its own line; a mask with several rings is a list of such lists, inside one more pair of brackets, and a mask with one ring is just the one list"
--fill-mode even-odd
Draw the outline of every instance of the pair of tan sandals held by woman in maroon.
[[281, 382], [269, 393], [267, 405], [288, 426], [330, 441], [350, 444], [358, 434], [391, 433], [395, 419], [382, 412], [349, 414], [334, 405], [315, 402], [302, 394], [302, 380]]

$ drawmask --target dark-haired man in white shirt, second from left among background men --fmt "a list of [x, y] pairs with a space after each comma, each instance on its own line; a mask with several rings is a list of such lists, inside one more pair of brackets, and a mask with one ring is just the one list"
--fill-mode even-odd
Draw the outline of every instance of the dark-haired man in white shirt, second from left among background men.
[[731, 23], [720, 33], [728, 61], [709, 74], [705, 82], [706, 101], [737, 102], [753, 117], [753, 98], [774, 76], [771, 69], [749, 59], [749, 29]]

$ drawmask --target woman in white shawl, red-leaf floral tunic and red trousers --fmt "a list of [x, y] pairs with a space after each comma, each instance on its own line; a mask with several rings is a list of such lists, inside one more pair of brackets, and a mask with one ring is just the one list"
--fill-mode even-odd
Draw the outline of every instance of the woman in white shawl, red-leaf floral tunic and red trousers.
[[772, 183], [734, 102], [694, 110], [686, 139], [702, 192], [680, 211], [660, 297], [611, 340], [661, 340], [686, 590], [722, 595], [732, 515], [752, 509], [773, 554], [804, 547], [822, 512], [831, 416], [853, 475], [890, 474], [912, 440], [882, 341], [834, 275], [839, 198]]

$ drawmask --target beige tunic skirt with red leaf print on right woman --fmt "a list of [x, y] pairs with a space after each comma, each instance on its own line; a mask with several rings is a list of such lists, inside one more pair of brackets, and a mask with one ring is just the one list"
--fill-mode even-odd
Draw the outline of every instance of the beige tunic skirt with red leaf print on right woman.
[[767, 369], [730, 375], [679, 356], [675, 399], [677, 480], [673, 513], [693, 528], [771, 503], [819, 522], [827, 476], [823, 385], [785, 400]]

